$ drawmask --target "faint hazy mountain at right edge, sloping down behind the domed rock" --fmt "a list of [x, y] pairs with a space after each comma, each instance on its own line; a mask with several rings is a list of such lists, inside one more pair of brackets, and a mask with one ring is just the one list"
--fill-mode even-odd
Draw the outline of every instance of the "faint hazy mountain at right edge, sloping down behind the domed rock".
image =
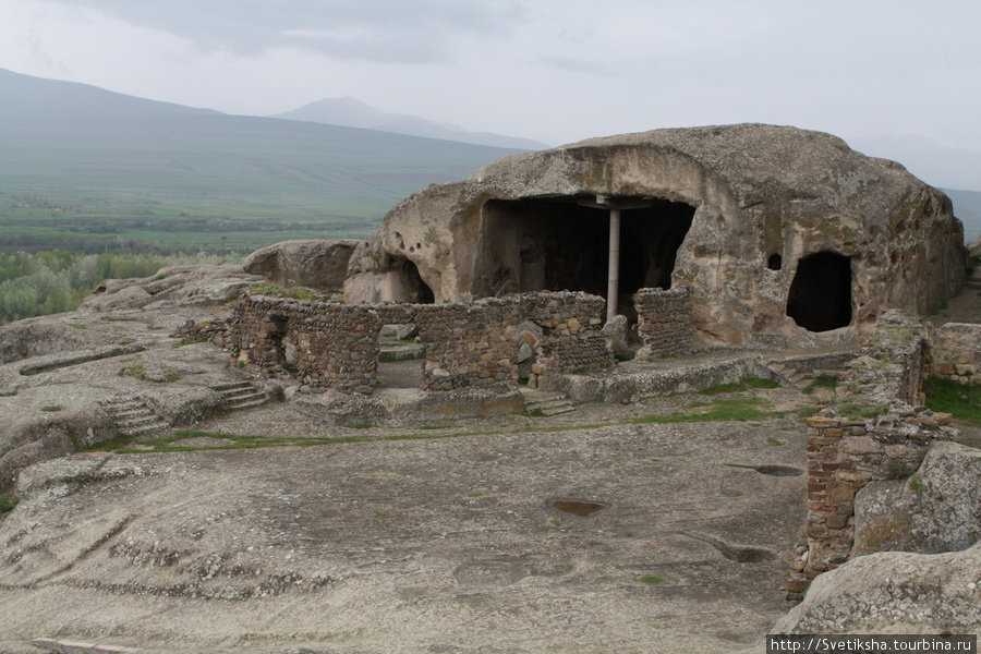
[[899, 161], [933, 186], [981, 191], [981, 152], [944, 147], [916, 135], [849, 138], [848, 144], [872, 157]]

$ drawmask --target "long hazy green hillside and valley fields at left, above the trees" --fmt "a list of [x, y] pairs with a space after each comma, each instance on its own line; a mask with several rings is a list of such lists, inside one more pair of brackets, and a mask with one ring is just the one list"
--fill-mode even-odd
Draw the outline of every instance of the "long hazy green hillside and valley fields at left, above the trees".
[[513, 150], [226, 116], [0, 70], [0, 251], [364, 235]]

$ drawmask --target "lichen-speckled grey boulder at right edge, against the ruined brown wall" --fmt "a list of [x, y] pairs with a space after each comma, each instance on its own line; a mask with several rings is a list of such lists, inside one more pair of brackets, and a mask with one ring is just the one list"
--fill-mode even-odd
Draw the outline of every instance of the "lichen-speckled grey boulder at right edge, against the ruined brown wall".
[[937, 441], [908, 480], [872, 482], [855, 499], [852, 557], [937, 554], [981, 541], [981, 450]]

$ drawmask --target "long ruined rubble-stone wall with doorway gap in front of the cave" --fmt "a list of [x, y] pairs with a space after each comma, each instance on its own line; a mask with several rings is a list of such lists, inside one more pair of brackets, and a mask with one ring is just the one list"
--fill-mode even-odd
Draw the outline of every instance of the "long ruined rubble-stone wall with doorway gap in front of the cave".
[[414, 323], [426, 344], [428, 390], [518, 382], [521, 342], [532, 347], [532, 386], [549, 373], [611, 363], [601, 334], [604, 301], [579, 292], [525, 293], [472, 303], [350, 305], [245, 298], [228, 322], [235, 365], [279, 374], [287, 346], [310, 386], [371, 393], [384, 325]]

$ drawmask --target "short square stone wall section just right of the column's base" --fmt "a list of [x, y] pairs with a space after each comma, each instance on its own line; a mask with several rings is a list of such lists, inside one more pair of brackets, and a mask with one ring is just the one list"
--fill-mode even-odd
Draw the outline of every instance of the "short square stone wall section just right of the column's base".
[[637, 331], [644, 343], [639, 356], [691, 352], [691, 289], [641, 289], [633, 296]]

